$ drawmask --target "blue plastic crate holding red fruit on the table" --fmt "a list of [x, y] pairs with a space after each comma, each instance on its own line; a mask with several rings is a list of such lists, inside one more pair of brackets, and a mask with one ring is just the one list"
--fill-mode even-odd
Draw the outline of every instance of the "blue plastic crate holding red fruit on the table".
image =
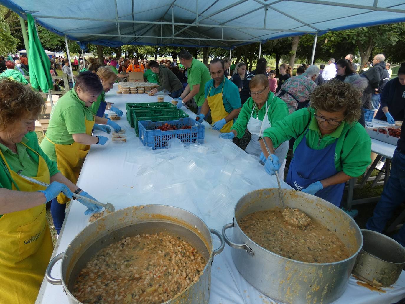
[[[190, 129], [160, 131], [157, 127], [164, 123], [175, 125], [177, 128], [183, 126], [192, 126]], [[153, 150], [167, 148], [169, 139], [175, 137], [183, 143], [194, 143], [196, 141], [203, 143], [205, 136], [205, 127], [203, 124], [192, 118], [180, 118], [179, 120], [169, 120], [161, 122], [152, 122], [151, 120], [141, 120], [138, 122], [139, 139], [144, 146], [151, 147]]]

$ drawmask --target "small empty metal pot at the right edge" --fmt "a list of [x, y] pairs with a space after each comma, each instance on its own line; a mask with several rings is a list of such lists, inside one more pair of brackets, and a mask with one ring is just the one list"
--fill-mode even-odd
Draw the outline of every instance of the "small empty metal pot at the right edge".
[[382, 233], [367, 229], [361, 232], [364, 242], [353, 274], [375, 287], [391, 286], [405, 266], [405, 249]]

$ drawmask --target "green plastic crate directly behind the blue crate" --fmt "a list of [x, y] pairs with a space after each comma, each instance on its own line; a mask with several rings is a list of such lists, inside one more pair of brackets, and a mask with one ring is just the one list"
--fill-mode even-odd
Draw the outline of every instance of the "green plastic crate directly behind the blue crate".
[[139, 136], [138, 122], [140, 120], [151, 120], [152, 122], [179, 120], [180, 118], [188, 118], [188, 114], [179, 109], [137, 109], [132, 110], [132, 119], [134, 121], [136, 136]]

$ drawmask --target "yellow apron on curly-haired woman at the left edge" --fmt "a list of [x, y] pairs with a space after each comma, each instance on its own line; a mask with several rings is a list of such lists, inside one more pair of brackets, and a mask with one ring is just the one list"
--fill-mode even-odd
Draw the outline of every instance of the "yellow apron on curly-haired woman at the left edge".
[[[0, 155], [19, 191], [44, 190], [44, 186], [29, 182], [12, 171], [1, 152]], [[48, 166], [42, 156], [38, 154], [38, 157], [38, 173], [33, 178], [49, 184]], [[13, 190], [17, 190], [15, 184]], [[45, 204], [42, 204], [3, 214], [0, 218], [0, 303], [35, 302], [53, 250], [45, 216]]]

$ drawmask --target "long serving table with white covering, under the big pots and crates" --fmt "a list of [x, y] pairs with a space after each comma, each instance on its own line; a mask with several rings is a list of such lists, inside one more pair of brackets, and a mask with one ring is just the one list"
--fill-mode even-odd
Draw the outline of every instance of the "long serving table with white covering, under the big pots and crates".
[[[125, 103], [134, 102], [154, 102], [155, 96], [147, 96], [147, 94], [116, 94], [116, 84], [111, 92], [106, 94], [106, 101], [115, 103], [115, 106], [125, 111]], [[171, 97], [166, 95], [165, 101], [170, 102]], [[195, 114], [182, 108], [191, 118], [195, 118]], [[108, 201], [113, 203], [116, 209], [126, 208], [129, 206], [138, 206], [149, 203], [159, 203], [164, 205], [172, 205], [186, 209], [193, 212], [197, 216], [203, 218], [208, 227], [221, 231], [226, 223], [232, 221], [232, 214], [229, 217], [217, 218], [216, 214], [212, 214], [211, 218], [207, 218], [198, 208], [196, 201], [190, 194], [184, 194], [182, 199], [160, 199], [157, 193], [152, 194], [148, 200], [139, 199], [138, 180], [136, 174], [138, 167], [128, 166], [125, 159], [133, 156], [134, 149], [140, 147], [141, 141], [138, 137], [129, 137], [130, 128], [124, 116], [118, 120], [118, 124], [126, 129], [128, 136], [126, 144], [113, 144], [108, 143], [106, 146], [92, 146], [83, 169], [81, 170], [78, 186], [85, 189], [88, 193], [100, 199], [100, 201]], [[223, 139], [218, 138], [219, 133], [212, 130], [211, 126], [204, 122], [205, 128], [205, 144], [220, 143]], [[97, 135], [105, 135], [97, 131]], [[236, 146], [235, 146], [236, 147]], [[260, 171], [261, 170], [261, 171]], [[265, 180], [268, 187], [277, 187], [275, 177], [271, 177], [263, 173], [264, 170], [256, 167], [252, 172], [249, 172], [249, 178], [259, 183], [259, 179]], [[250, 174], [251, 173], [251, 174]], [[264, 174], [264, 175], [263, 175]], [[289, 188], [285, 183], [282, 184], [284, 188]], [[263, 186], [259, 186], [263, 188]], [[208, 193], [207, 193], [208, 195]], [[144, 196], [142, 196], [144, 197]], [[235, 201], [236, 203], [236, 201]], [[88, 225], [89, 216], [83, 214], [85, 207], [77, 201], [73, 201], [68, 210], [66, 211], [66, 220], [62, 227], [60, 237], [56, 243], [52, 257], [64, 252], [68, 244], [73, 238]], [[230, 234], [229, 234], [230, 236]], [[214, 237], [214, 248], [219, 245], [219, 241]], [[53, 267], [52, 276], [55, 278], [60, 277], [60, 261]], [[357, 280], [353, 277], [350, 278], [349, 285], [339, 300], [335, 303], [394, 303], [405, 297], [405, 272], [401, 273], [399, 280], [391, 288], [384, 289], [384, 292], [371, 291], [366, 287], [357, 284]], [[60, 285], [51, 285], [45, 279], [41, 286], [40, 293], [36, 303], [49, 303], [53, 304], [68, 303], [68, 298]], [[257, 289], [252, 287], [247, 281], [239, 274], [234, 266], [232, 257], [230, 255], [230, 247], [225, 245], [224, 251], [215, 256], [212, 266], [211, 278], [211, 294], [210, 304], [258, 304], [258, 303], [277, 303], [265, 295], [260, 293]]]

